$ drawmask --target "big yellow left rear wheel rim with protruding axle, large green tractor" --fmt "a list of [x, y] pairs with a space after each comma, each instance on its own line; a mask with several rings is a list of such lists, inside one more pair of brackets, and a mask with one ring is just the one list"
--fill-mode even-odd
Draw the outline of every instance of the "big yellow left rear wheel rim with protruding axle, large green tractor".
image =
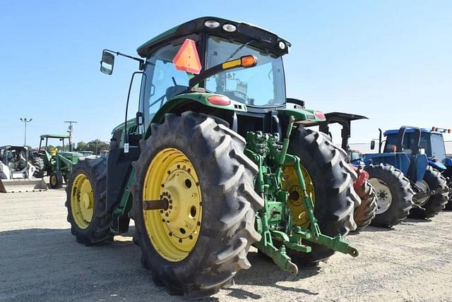
[[143, 200], [162, 198], [167, 198], [168, 209], [143, 210], [145, 228], [162, 258], [181, 261], [196, 245], [203, 213], [196, 170], [190, 159], [175, 148], [158, 152], [145, 175]]

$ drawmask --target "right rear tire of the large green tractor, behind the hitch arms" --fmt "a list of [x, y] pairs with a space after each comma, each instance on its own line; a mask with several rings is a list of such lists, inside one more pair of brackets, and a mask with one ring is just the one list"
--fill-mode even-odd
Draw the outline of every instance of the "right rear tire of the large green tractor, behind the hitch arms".
[[[300, 158], [314, 186], [314, 215], [321, 232], [328, 236], [346, 236], [349, 231], [354, 231], [357, 226], [353, 219], [353, 209], [360, 202], [353, 190], [357, 174], [347, 164], [345, 151], [335, 146], [327, 135], [299, 126], [292, 131], [288, 152]], [[300, 265], [315, 264], [334, 253], [326, 246], [310, 242], [304, 244], [312, 247], [311, 253], [287, 250], [292, 260]]]

